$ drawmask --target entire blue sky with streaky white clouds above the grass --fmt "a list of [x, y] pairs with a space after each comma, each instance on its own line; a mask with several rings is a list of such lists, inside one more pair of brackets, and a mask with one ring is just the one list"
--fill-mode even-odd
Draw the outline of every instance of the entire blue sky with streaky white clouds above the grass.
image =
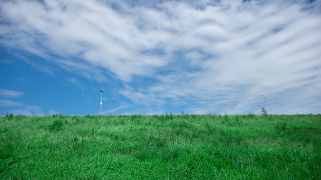
[[0, 4], [1, 116], [321, 113], [321, 1]]

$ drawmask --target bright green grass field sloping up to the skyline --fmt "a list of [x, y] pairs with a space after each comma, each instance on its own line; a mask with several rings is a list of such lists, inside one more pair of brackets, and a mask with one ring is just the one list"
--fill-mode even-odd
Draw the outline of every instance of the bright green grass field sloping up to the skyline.
[[321, 116], [3, 116], [0, 179], [321, 179]]

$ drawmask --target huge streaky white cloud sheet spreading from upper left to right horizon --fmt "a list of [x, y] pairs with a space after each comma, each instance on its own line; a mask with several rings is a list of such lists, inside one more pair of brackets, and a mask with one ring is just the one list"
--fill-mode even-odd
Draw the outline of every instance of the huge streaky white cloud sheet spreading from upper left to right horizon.
[[120, 79], [135, 104], [258, 113], [264, 94], [271, 113], [321, 105], [320, 1], [44, 2], [3, 2], [0, 43], [98, 82]]

